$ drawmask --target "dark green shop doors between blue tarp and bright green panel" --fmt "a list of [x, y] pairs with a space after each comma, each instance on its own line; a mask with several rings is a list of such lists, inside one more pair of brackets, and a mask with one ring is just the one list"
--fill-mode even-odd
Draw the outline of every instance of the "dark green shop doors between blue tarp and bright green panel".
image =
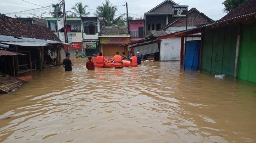
[[204, 32], [202, 70], [234, 76], [237, 35], [236, 27]]

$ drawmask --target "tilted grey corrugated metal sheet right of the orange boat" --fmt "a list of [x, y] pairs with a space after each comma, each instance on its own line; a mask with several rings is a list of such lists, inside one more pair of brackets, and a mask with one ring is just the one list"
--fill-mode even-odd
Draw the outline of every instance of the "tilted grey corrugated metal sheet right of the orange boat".
[[148, 44], [142, 46], [136, 46], [133, 48], [134, 53], [140, 52], [140, 55], [147, 55], [159, 52], [158, 44]]

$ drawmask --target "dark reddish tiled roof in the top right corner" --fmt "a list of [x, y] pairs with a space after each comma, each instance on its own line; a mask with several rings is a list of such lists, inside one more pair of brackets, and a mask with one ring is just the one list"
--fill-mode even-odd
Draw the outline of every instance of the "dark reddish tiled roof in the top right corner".
[[229, 12], [219, 21], [228, 20], [231, 18], [235, 18], [238, 16], [243, 16], [251, 13], [256, 13], [256, 0], [248, 0], [244, 4], [241, 4], [239, 7], [236, 7], [234, 10]]

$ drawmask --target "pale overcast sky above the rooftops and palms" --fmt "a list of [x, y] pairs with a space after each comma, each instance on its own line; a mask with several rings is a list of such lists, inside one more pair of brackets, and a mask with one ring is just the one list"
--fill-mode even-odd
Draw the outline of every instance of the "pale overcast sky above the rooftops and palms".
[[[37, 5], [29, 4], [27, 2], [24, 2], [22, 0], [0, 0], [0, 13], [14, 13], [18, 11], [25, 11], [29, 9], [36, 9], [42, 5], [42, 6], [48, 6], [52, 3], [56, 3], [59, 0], [25, 0], [27, 2], [31, 2]], [[105, 2], [105, 0], [65, 0], [66, 3], [66, 11], [71, 10], [71, 7], [76, 2], [83, 2], [84, 4], [87, 4], [89, 6], [88, 11], [91, 13], [91, 16], [94, 16], [93, 13], [95, 11], [95, 8], [98, 5], [102, 5], [102, 2]], [[128, 2], [128, 10], [129, 13], [131, 13], [131, 16], [134, 16], [135, 18], [143, 17], [143, 14], [155, 7], [156, 5], [160, 4], [164, 0], [126, 0]], [[174, 2], [180, 4], [180, 5], [189, 5], [189, 9], [192, 7], [196, 7], [200, 12], [206, 14], [213, 20], [219, 20], [222, 18], [225, 13], [223, 13], [222, 9], [224, 8], [222, 5], [222, 2], [224, 0], [174, 0]], [[126, 13], [126, 7], [120, 6], [125, 4], [125, 0], [110, 0], [110, 2], [113, 5], [119, 6], [118, 11], [116, 14], [120, 13]], [[33, 14], [41, 14], [41, 13], [49, 13], [49, 11], [53, 9], [52, 7], [48, 8], [42, 8], [38, 10], [34, 10], [32, 12], [24, 12], [24, 13], [16, 13], [16, 16], [20, 17], [27, 17], [31, 16], [30, 13]], [[46, 15], [44, 16], [50, 16]], [[7, 14], [7, 16], [14, 17], [15, 14]]]

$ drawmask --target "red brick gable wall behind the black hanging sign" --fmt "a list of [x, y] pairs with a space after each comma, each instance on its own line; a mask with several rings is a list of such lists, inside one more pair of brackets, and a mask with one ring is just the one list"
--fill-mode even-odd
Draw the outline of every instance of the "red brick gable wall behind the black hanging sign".
[[[212, 21], [208, 20], [202, 14], [193, 11], [188, 14], [187, 18], [187, 26], [199, 26], [202, 24], [210, 24]], [[186, 26], [186, 18], [181, 18], [180, 20], [176, 21], [174, 24], [171, 25], [171, 27], [182, 27]]]

